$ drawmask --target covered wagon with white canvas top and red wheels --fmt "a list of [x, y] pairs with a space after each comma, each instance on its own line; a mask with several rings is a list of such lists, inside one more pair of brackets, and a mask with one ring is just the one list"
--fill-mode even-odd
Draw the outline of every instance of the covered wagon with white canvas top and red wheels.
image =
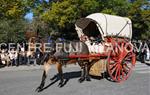
[[[94, 13], [77, 20], [75, 29], [81, 41], [87, 44], [89, 55], [71, 55], [70, 58], [88, 58], [94, 64], [103, 63], [110, 78], [126, 80], [136, 63], [133, 52], [132, 22], [129, 18]], [[101, 66], [93, 65], [93, 69]]]

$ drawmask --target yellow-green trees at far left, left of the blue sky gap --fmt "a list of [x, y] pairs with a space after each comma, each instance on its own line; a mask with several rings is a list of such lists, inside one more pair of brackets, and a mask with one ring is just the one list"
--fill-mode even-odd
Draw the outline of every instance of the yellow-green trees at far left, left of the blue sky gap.
[[0, 42], [17, 42], [24, 38], [27, 22], [24, 16], [36, 0], [1, 0]]

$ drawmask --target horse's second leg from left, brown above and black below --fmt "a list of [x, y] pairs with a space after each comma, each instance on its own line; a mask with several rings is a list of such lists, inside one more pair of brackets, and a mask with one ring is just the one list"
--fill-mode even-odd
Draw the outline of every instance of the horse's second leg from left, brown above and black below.
[[59, 86], [62, 87], [63, 86], [63, 82], [64, 82], [63, 71], [62, 71], [62, 64], [57, 62], [56, 66], [57, 66], [58, 74], [59, 74], [59, 77], [60, 77]]

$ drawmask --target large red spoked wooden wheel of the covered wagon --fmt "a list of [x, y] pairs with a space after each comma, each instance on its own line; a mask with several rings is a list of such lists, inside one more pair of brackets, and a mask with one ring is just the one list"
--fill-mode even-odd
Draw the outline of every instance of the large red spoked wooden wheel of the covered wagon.
[[[116, 82], [127, 80], [135, 65], [135, 54], [133, 52], [125, 54], [124, 52], [125, 51], [120, 52], [115, 56], [111, 56], [111, 52], [110, 57], [108, 58], [108, 74], [110, 78]], [[124, 54], [124, 57], [121, 53]]]

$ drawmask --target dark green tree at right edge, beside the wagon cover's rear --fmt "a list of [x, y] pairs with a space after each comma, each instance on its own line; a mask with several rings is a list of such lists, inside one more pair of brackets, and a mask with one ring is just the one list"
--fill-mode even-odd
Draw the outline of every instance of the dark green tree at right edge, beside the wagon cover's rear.
[[136, 39], [150, 38], [150, 10], [144, 9], [149, 4], [147, 0], [137, 0], [128, 12], [133, 22], [133, 37]]

